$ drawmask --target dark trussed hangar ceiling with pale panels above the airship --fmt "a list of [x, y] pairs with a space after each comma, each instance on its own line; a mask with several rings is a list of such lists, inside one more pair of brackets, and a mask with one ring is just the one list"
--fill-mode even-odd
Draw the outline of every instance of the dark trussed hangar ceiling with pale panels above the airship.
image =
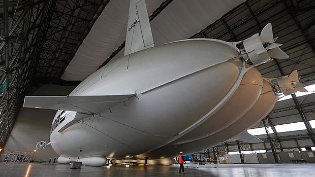
[[[146, 0], [146, 4], [156, 44], [187, 38], [239, 41], [271, 22], [274, 36], [279, 37], [277, 42], [283, 44], [281, 49], [289, 59], [259, 66], [262, 75], [280, 77], [297, 69], [301, 83], [315, 84], [314, 1], [248, 0], [231, 4]], [[127, 0], [0, 2], [0, 148], [25, 95], [42, 84], [77, 85], [100, 66], [122, 56], [128, 7]], [[252, 149], [315, 146], [315, 127], [309, 124], [315, 119], [314, 95], [292, 95], [278, 101], [254, 126], [268, 132], [277, 125], [303, 122], [306, 129], [258, 135], [264, 143], [253, 144]], [[235, 147], [235, 141], [229, 141], [215, 148], [233, 151]]]

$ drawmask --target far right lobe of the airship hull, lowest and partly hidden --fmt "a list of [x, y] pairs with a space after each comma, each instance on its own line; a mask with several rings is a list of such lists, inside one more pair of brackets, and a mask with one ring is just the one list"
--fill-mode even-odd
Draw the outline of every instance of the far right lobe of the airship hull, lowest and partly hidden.
[[195, 153], [223, 143], [224, 141], [233, 138], [236, 134], [239, 134], [245, 129], [257, 124], [273, 109], [276, 101], [278, 100], [277, 95], [272, 91], [273, 88], [270, 83], [264, 80], [263, 85], [264, 87], [261, 95], [253, 107], [251, 107], [251, 109], [243, 117], [241, 117], [229, 127], [210, 136], [191, 141], [190, 143], [179, 144], [178, 142], [176, 143], [176, 141], [174, 141], [173, 143], [170, 143], [152, 152], [141, 154], [138, 156], [138, 158], [160, 158], [161, 156], [167, 157], [178, 153], [178, 151], [184, 151], [187, 154]]

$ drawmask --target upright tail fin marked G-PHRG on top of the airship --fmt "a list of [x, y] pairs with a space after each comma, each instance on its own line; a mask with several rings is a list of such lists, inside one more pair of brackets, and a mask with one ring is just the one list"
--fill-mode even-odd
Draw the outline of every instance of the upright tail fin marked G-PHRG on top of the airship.
[[145, 0], [130, 0], [124, 55], [154, 47]]

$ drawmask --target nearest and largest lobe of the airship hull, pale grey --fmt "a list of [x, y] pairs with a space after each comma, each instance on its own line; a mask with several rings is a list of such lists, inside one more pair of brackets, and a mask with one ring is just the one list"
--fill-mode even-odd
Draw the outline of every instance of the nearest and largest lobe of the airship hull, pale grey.
[[128, 70], [127, 62], [116, 64], [128, 58], [118, 59], [70, 95], [123, 94], [125, 90], [139, 95], [61, 132], [55, 129], [50, 136], [52, 148], [63, 157], [124, 158], [165, 146], [211, 118], [230, 99], [246, 69], [238, 55], [225, 42], [187, 40], [135, 53]]

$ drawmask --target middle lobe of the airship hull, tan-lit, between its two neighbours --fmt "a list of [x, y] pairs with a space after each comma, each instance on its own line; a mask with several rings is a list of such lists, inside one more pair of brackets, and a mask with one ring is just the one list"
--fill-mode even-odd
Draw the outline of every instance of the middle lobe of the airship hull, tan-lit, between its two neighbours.
[[245, 74], [236, 92], [227, 103], [213, 116], [194, 131], [175, 140], [184, 144], [211, 136], [226, 129], [241, 119], [258, 100], [263, 88], [263, 78], [256, 68], [251, 68]]

